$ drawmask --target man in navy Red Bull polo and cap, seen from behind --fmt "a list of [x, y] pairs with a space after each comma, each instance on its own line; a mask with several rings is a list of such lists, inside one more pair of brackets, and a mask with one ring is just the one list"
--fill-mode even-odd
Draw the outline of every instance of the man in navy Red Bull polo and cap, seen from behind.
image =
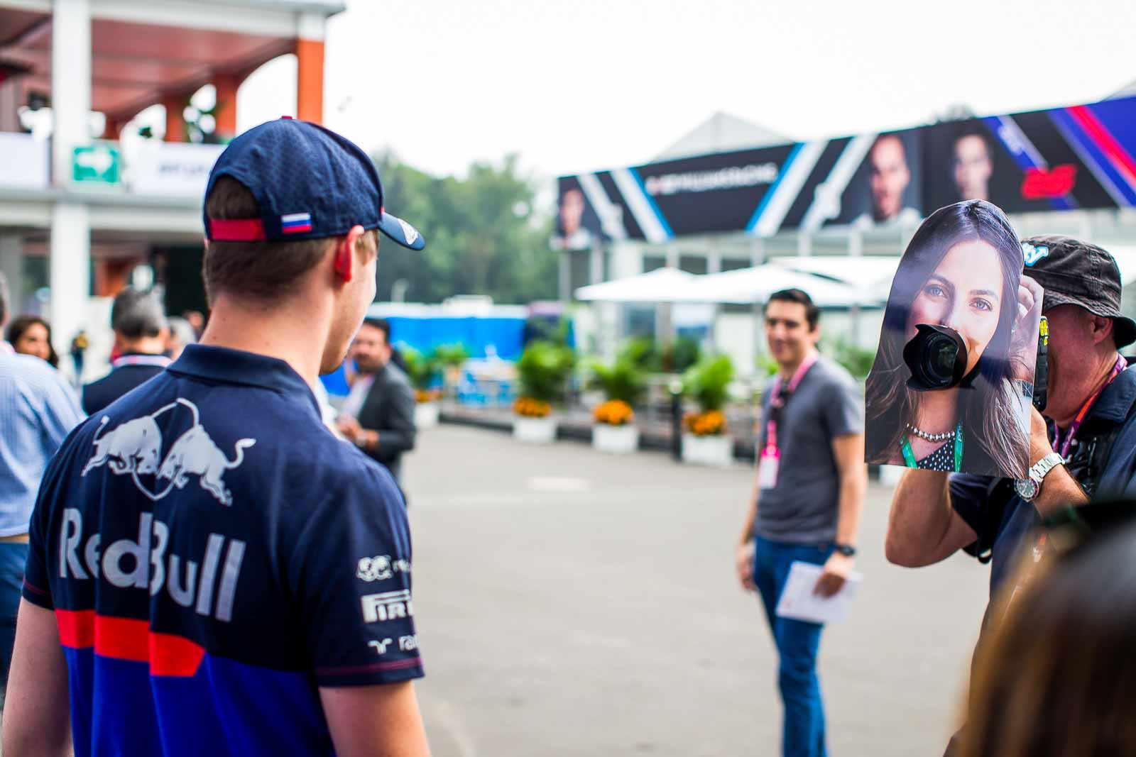
[[229, 144], [204, 215], [201, 344], [44, 477], [3, 754], [426, 755], [398, 488], [310, 388], [375, 296], [376, 229], [423, 239], [366, 153], [291, 119]]

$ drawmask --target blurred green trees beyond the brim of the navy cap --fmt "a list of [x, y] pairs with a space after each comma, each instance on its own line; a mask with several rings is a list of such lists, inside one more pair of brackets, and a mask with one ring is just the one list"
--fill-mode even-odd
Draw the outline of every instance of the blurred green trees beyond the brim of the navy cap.
[[409, 302], [456, 294], [488, 295], [502, 304], [556, 298], [552, 219], [533, 216], [536, 191], [516, 155], [496, 166], [475, 162], [465, 178], [437, 178], [391, 154], [375, 162], [384, 203], [426, 238], [421, 252], [381, 244], [378, 300], [390, 300], [399, 279], [409, 284]]

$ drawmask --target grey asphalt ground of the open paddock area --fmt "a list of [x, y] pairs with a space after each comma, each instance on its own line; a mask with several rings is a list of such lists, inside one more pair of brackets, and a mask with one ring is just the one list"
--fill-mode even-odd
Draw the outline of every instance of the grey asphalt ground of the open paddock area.
[[[404, 459], [418, 695], [436, 757], [778, 755], [776, 653], [733, 544], [752, 469], [443, 426]], [[988, 572], [883, 555], [872, 485], [850, 617], [825, 631], [829, 754], [942, 754]]]

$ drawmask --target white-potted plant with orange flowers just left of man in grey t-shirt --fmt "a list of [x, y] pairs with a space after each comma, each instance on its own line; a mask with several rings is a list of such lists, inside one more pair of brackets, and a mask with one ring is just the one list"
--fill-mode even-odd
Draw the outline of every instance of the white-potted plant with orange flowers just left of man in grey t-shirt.
[[734, 438], [722, 412], [734, 380], [734, 364], [726, 355], [708, 356], [683, 375], [683, 393], [698, 403], [699, 412], [683, 417], [683, 461], [701, 465], [729, 465]]

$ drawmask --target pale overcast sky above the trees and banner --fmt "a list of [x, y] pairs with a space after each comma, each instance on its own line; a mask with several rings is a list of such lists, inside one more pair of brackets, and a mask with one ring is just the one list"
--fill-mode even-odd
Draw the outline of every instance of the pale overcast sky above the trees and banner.
[[[1100, 100], [1136, 79], [1133, 0], [351, 0], [325, 123], [434, 174], [645, 162], [716, 111], [795, 138]], [[249, 126], [294, 59], [242, 89]]]

